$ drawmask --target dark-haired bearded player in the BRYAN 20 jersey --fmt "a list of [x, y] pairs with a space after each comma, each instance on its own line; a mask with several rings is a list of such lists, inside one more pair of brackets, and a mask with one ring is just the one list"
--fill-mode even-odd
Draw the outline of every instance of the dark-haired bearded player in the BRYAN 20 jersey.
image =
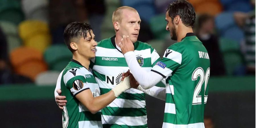
[[177, 43], [167, 48], [163, 58], [147, 72], [137, 63], [134, 46], [124, 36], [120, 47], [135, 79], [148, 89], [166, 79], [164, 128], [204, 128], [208, 97], [210, 60], [202, 42], [193, 33], [195, 10], [185, 1], [168, 5], [166, 30]]

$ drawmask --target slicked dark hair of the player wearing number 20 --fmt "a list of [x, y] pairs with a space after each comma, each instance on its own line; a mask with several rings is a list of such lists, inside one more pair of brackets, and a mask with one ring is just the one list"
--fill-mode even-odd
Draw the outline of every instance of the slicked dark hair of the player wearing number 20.
[[166, 9], [169, 16], [174, 20], [174, 17], [179, 15], [182, 23], [187, 27], [193, 27], [195, 24], [195, 9], [186, 0], [177, 0], [170, 3]]

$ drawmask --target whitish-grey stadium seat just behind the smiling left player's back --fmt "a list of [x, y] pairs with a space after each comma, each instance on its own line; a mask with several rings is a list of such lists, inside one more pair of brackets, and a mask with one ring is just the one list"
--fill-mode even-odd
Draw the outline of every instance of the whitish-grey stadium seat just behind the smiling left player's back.
[[37, 75], [35, 83], [37, 86], [56, 85], [59, 71], [46, 71]]

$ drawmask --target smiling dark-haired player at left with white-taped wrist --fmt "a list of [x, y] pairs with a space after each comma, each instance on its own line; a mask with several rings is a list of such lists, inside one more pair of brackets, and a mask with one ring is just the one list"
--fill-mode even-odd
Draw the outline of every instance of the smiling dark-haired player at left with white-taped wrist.
[[95, 57], [94, 38], [92, 27], [87, 23], [73, 22], [65, 28], [64, 41], [73, 59], [60, 75], [62, 94], [67, 100], [63, 106], [63, 128], [101, 128], [100, 110], [130, 88], [127, 77], [108, 93], [100, 95], [100, 88], [88, 70], [90, 59]]

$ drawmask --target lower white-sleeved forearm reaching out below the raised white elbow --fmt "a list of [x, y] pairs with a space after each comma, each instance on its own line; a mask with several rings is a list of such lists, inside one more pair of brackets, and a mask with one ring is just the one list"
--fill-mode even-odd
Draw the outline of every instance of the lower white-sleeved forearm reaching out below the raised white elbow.
[[154, 98], [158, 98], [160, 100], [166, 99], [166, 88], [153, 86], [152, 88], [149, 88], [149, 89], [143, 89], [141, 85], [139, 85], [137, 89], [145, 92], [146, 94]]

